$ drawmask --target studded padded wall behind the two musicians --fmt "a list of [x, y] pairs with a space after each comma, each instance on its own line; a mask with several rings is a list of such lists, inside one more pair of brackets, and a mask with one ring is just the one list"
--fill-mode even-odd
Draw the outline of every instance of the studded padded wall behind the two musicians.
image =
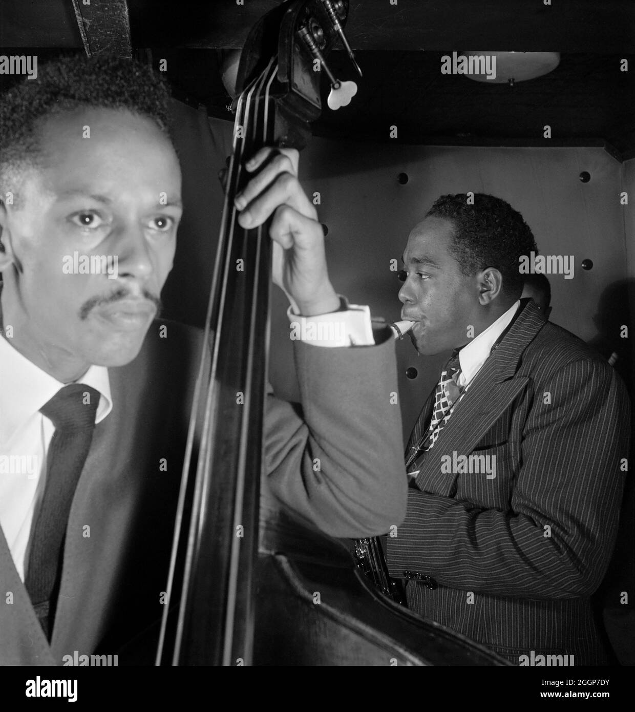
[[[210, 120], [208, 132], [201, 112], [180, 104], [174, 110], [186, 177], [186, 217], [174, 271], [164, 290], [165, 314], [200, 325], [222, 207], [216, 173], [231, 147], [231, 124]], [[579, 180], [582, 171], [589, 172], [589, 182]], [[408, 175], [406, 184], [399, 184], [400, 173]], [[399, 318], [400, 283], [390, 271], [390, 260], [401, 257], [411, 228], [441, 194], [488, 192], [523, 214], [541, 253], [574, 256], [572, 279], [550, 276], [552, 320], [584, 340], [595, 340], [603, 350], [609, 348], [609, 353], [615, 309], [620, 312], [618, 321], [624, 321], [626, 279], [635, 270], [632, 201], [626, 217], [619, 202], [623, 180], [635, 198], [634, 175], [633, 162], [624, 169], [597, 147], [424, 147], [318, 138], [303, 152], [300, 166], [306, 192], [320, 193], [318, 210], [329, 229], [332, 281], [353, 303], [369, 304], [373, 315]], [[625, 219], [630, 221], [628, 249]], [[582, 269], [584, 259], [592, 260], [590, 271]], [[292, 397], [295, 377], [288, 320], [278, 290], [273, 305], [271, 379], [280, 394]], [[397, 348], [407, 434], [446, 355], [418, 357], [406, 340]], [[419, 375], [407, 379], [405, 370], [413, 366]]]

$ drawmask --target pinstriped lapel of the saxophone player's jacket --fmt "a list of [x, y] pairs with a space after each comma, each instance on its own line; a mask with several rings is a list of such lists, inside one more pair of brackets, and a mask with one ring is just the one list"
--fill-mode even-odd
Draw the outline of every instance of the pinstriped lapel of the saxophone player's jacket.
[[[442, 471], [442, 458], [469, 455], [511, 402], [528, 385], [527, 377], [515, 376], [520, 357], [545, 322], [532, 302], [525, 303], [515, 323], [483, 364], [463, 399], [441, 430], [434, 447], [423, 454], [416, 485], [422, 491], [451, 496], [456, 473]], [[444, 468], [447, 469], [447, 468]]]

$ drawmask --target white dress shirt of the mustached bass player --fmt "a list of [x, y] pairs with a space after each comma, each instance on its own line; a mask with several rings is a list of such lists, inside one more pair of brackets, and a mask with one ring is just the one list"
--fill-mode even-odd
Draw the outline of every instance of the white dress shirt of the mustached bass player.
[[[99, 392], [95, 423], [101, 422], [112, 409], [107, 368], [91, 366], [75, 382]], [[22, 580], [55, 432], [39, 409], [64, 385], [0, 337], [0, 527]]]

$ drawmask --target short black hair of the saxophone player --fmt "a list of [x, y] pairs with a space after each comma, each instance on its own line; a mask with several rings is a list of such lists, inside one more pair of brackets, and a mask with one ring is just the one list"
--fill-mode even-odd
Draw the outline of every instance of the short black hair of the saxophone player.
[[501, 198], [475, 193], [473, 204], [465, 193], [442, 195], [426, 217], [453, 224], [451, 253], [465, 275], [493, 267], [503, 276], [503, 293], [518, 298], [523, 292], [519, 260], [538, 249], [523, 216]]

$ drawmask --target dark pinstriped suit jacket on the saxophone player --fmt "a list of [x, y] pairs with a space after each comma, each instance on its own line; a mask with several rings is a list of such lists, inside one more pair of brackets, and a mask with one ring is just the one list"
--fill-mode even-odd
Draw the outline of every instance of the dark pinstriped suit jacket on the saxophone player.
[[[615, 543], [629, 401], [601, 357], [521, 304], [424, 456], [389, 569], [409, 572], [411, 609], [517, 664], [531, 650], [602, 664], [589, 597]], [[495, 478], [448, 472], [453, 453], [495, 456]]]

